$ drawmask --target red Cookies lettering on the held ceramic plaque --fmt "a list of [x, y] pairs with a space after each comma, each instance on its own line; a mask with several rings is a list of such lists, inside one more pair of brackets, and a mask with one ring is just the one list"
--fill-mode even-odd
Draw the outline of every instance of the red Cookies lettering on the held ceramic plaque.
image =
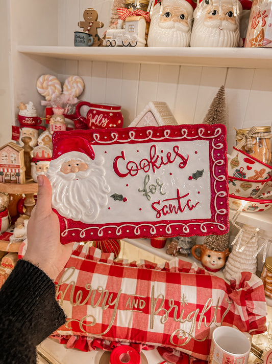
[[[155, 173], [156, 169], [159, 169], [162, 165], [174, 163], [177, 157], [181, 159], [179, 163], [180, 168], [185, 168], [189, 159], [189, 155], [184, 157], [182, 154], [179, 153], [179, 146], [175, 145], [173, 147], [173, 152], [167, 152], [165, 156], [159, 156], [157, 153], [157, 146], [152, 145], [149, 151], [149, 158], [143, 158], [140, 160], [139, 163], [134, 161], [128, 161], [125, 169], [126, 172], [120, 172], [119, 164], [122, 161], [126, 161], [125, 152], [122, 151], [120, 156], [114, 158], [113, 161], [113, 169], [117, 176], [119, 177], [127, 177], [128, 175], [136, 176], [139, 170], [143, 170], [144, 173], [148, 173], [151, 169]], [[128, 171], [128, 172], [127, 172]]]

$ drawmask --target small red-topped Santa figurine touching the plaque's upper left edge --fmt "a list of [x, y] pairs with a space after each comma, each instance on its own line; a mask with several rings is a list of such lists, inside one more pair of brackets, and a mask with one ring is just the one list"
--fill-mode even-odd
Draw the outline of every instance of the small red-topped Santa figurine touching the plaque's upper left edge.
[[37, 176], [46, 175], [52, 158], [51, 150], [43, 145], [36, 146], [32, 151], [31, 177], [37, 182]]

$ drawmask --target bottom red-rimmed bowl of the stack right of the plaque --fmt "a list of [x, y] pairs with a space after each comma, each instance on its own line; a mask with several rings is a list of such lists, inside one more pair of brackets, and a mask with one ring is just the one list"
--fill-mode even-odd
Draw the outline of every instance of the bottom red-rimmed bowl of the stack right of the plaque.
[[229, 207], [233, 210], [244, 204], [243, 211], [246, 212], [260, 212], [269, 210], [272, 207], [272, 200], [253, 199], [251, 197], [240, 197], [236, 195], [229, 195]]

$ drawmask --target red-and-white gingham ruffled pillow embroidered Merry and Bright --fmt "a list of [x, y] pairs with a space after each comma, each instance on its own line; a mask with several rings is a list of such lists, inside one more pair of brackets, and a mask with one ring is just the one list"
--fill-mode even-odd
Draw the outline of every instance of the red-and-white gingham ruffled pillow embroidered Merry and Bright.
[[67, 319], [55, 337], [70, 338], [69, 346], [82, 350], [97, 342], [106, 350], [112, 341], [132, 342], [207, 360], [215, 327], [251, 334], [266, 330], [263, 284], [248, 272], [228, 284], [178, 258], [136, 266], [76, 243], [56, 284]]

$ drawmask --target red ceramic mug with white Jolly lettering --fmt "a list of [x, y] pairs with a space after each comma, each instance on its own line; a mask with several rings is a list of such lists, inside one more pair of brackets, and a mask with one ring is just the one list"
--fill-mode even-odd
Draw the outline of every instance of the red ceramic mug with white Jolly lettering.
[[[80, 109], [84, 105], [90, 108], [86, 118], [80, 114]], [[89, 129], [109, 129], [123, 125], [123, 116], [119, 105], [82, 101], [77, 104], [76, 115], [80, 121], [87, 124]]]

